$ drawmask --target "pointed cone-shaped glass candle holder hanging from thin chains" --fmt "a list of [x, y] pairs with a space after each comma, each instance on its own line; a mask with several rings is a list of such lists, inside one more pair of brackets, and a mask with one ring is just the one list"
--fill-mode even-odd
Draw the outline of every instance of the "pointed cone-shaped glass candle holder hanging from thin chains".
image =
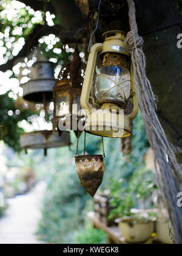
[[103, 143], [103, 155], [86, 155], [86, 132], [84, 133], [84, 154], [78, 155], [78, 143], [76, 146], [76, 172], [82, 187], [90, 194], [90, 196], [95, 196], [96, 191], [103, 182], [104, 176], [104, 141]]

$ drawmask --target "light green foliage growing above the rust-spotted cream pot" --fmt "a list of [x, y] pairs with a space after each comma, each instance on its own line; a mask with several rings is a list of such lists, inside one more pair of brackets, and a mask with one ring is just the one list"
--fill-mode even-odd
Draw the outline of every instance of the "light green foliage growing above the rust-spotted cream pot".
[[130, 210], [140, 205], [151, 208], [152, 193], [156, 188], [155, 173], [146, 168], [136, 169], [127, 185], [123, 179], [114, 181], [110, 186], [113, 199], [110, 218], [132, 216]]

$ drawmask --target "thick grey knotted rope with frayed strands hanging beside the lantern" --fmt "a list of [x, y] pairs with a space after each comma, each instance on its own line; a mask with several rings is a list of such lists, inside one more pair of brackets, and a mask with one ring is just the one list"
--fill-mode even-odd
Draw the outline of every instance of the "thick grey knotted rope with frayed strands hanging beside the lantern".
[[138, 35], [136, 10], [133, 0], [127, 0], [129, 5], [129, 22], [131, 31], [127, 34], [126, 45], [132, 51], [132, 63], [136, 80], [140, 108], [146, 126], [147, 137], [155, 152], [160, 171], [158, 183], [164, 194], [166, 207], [175, 229], [177, 243], [182, 244], [182, 208], [177, 205], [177, 194], [182, 184], [182, 170], [174, 151], [166, 137], [158, 119], [157, 98], [153, 94], [149, 79], [146, 76], [146, 58], [143, 52], [143, 38]]

